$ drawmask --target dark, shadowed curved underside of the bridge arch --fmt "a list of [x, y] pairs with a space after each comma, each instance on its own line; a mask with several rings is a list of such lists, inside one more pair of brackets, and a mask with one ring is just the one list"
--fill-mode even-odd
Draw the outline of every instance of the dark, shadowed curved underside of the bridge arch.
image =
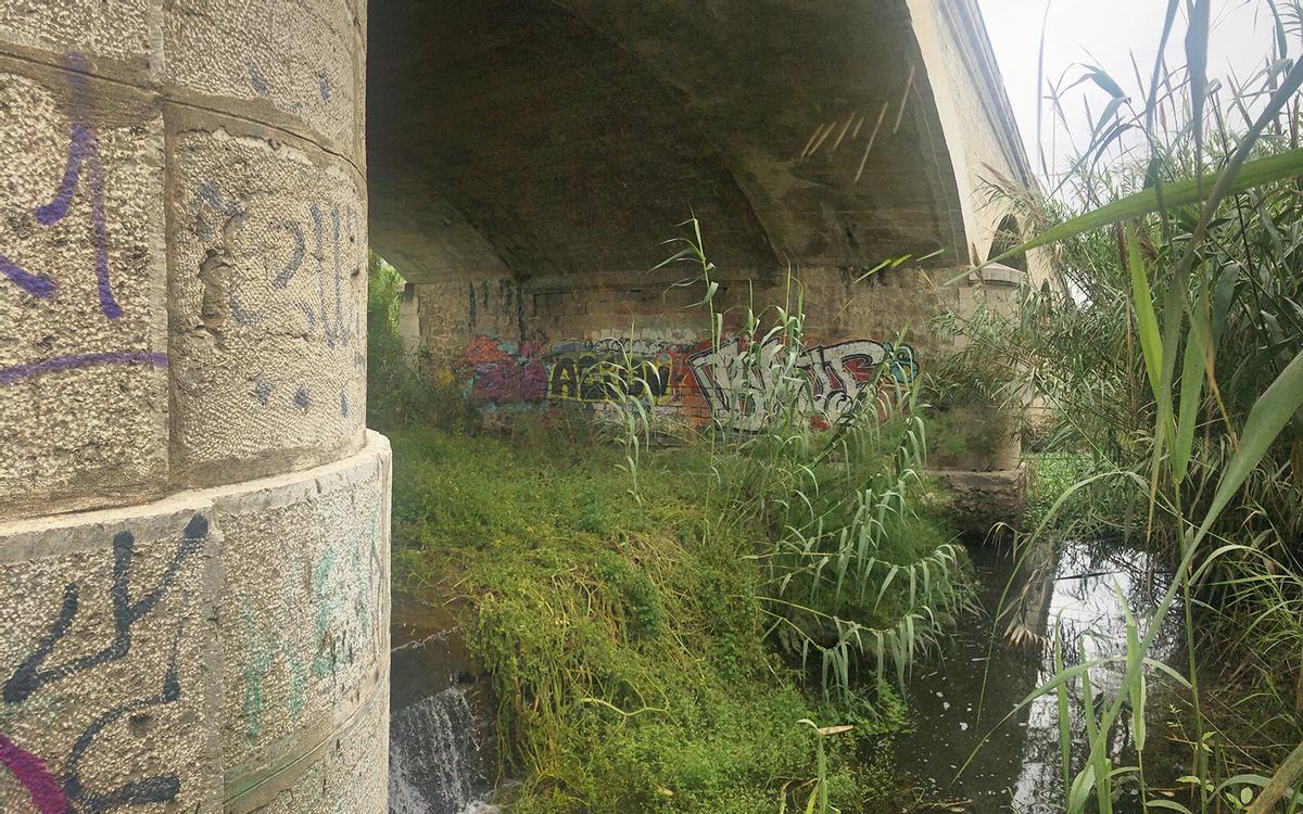
[[900, 0], [386, 0], [370, 40], [371, 242], [412, 283], [623, 280], [689, 215], [726, 280], [967, 257]]

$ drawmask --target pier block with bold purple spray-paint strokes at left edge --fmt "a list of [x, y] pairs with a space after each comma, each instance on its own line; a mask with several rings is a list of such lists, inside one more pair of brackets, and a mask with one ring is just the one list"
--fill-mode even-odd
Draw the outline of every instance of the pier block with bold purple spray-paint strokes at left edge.
[[0, 145], [23, 145], [0, 150], [0, 517], [155, 495], [162, 115], [122, 86], [0, 59]]

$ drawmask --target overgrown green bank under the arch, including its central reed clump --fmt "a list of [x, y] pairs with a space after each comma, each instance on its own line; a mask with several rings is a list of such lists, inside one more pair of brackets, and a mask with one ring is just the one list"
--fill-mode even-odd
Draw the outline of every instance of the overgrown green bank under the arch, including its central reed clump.
[[464, 619], [512, 810], [899, 811], [902, 688], [969, 599], [916, 393], [887, 375], [850, 421], [812, 422], [800, 315], [774, 310], [748, 313], [731, 376], [777, 383], [741, 393], [761, 432], [649, 452], [640, 399], [612, 393], [602, 421], [490, 435], [412, 375], [392, 292], [374, 263], [395, 578]]

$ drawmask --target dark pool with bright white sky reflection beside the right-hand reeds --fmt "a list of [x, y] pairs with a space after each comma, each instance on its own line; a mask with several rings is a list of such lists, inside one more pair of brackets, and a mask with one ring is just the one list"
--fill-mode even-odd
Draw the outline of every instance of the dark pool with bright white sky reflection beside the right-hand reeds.
[[[966, 623], [934, 666], [916, 671], [909, 701], [917, 731], [902, 738], [898, 761], [932, 793], [971, 801], [968, 805], [976, 811], [1059, 811], [1065, 780], [1057, 697], [1052, 693], [1007, 719], [1006, 715], [1053, 677], [1055, 621], [1062, 625], [1067, 666], [1083, 658], [1123, 656], [1091, 671], [1098, 714], [1101, 705], [1118, 694], [1126, 673], [1127, 616], [1123, 608], [1130, 608], [1144, 637], [1148, 617], [1167, 587], [1167, 577], [1156, 572], [1152, 560], [1136, 550], [1068, 544], [1057, 555], [1046, 552], [1040, 563], [1031, 561], [1035, 556], [1028, 557], [1024, 573], [1014, 580], [1010, 591], [1010, 598], [1019, 596], [1022, 602], [993, 625], [1001, 594], [1014, 570], [1012, 560], [990, 551], [979, 551], [973, 559], [982, 580], [980, 602], [985, 613], [980, 620]], [[1006, 604], [1009, 602], [1006, 599]], [[1020, 637], [1022, 645], [1010, 645], [1006, 630]], [[1164, 621], [1151, 656], [1173, 659], [1183, 653], [1182, 638], [1177, 608]], [[1181, 755], [1165, 751], [1162, 682], [1152, 675], [1149, 680], [1151, 694], [1157, 693], [1157, 697], [1147, 707], [1149, 728], [1154, 732], [1147, 744], [1147, 771], [1174, 778], [1184, 771], [1175, 766]], [[1087, 757], [1079, 681], [1068, 685], [1068, 698], [1075, 775]], [[1114, 766], [1134, 765], [1130, 723], [1130, 709], [1124, 709], [1113, 731]], [[990, 740], [955, 779], [988, 733]], [[1143, 810], [1134, 784], [1123, 784], [1115, 810]]]

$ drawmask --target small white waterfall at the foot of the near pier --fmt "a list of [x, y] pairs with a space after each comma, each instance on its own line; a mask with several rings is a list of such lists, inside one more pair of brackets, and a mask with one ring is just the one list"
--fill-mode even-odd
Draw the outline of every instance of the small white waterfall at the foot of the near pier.
[[390, 814], [489, 814], [465, 693], [450, 686], [390, 719]]

